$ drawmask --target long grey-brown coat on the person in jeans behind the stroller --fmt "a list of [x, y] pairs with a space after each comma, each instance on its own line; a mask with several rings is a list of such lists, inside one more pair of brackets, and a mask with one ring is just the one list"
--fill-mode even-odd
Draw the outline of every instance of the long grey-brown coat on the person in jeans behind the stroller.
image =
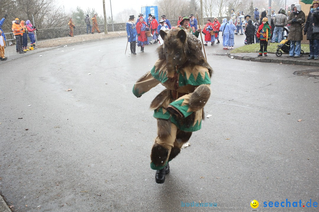
[[[296, 18], [296, 22], [292, 22], [292, 20]], [[298, 14], [292, 12], [288, 17], [287, 24], [291, 24], [288, 40], [302, 40], [302, 26], [301, 24], [306, 22], [306, 16], [303, 11], [300, 11]]]

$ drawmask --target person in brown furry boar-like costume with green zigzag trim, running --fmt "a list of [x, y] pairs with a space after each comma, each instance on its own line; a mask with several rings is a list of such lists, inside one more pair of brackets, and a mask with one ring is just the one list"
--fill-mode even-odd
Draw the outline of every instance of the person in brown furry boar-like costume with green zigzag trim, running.
[[161, 83], [166, 89], [153, 99], [150, 109], [157, 119], [157, 137], [151, 151], [155, 181], [163, 183], [169, 161], [181, 151], [192, 132], [200, 130], [210, 94], [211, 74], [201, 42], [191, 33], [174, 28], [161, 30], [164, 41], [152, 70], [137, 80], [133, 94], [139, 98]]

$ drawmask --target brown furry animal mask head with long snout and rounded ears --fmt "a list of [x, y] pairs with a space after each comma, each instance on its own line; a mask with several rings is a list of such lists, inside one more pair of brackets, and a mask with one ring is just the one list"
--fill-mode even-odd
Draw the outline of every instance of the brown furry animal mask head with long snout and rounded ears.
[[182, 29], [173, 29], [169, 33], [161, 30], [160, 36], [164, 40], [164, 54], [166, 58], [167, 77], [172, 79], [177, 70], [187, 61], [187, 34]]

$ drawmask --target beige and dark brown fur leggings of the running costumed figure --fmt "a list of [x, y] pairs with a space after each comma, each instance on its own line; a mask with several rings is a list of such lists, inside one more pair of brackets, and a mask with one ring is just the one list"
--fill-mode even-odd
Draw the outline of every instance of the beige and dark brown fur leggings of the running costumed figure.
[[192, 132], [185, 132], [176, 127], [170, 120], [157, 120], [157, 137], [151, 152], [151, 168], [162, 169], [168, 161], [176, 157]]

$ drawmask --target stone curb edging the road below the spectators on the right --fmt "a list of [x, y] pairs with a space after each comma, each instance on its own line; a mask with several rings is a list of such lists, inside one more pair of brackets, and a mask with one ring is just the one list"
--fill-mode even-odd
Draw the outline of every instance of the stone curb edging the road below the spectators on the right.
[[[268, 53], [269, 54], [269, 53]], [[229, 58], [234, 58], [238, 60], [246, 60], [246, 61], [254, 61], [254, 62], [263, 62], [263, 63], [282, 63], [289, 65], [305, 65], [305, 66], [319, 66], [319, 61], [304, 61], [304, 60], [296, 60], [296, 59], [282, 59], [278, 58], [265, 58], [265, 57], [249, 57], [242, 56], [238, 54], [226, 53], [226, 56]]]

